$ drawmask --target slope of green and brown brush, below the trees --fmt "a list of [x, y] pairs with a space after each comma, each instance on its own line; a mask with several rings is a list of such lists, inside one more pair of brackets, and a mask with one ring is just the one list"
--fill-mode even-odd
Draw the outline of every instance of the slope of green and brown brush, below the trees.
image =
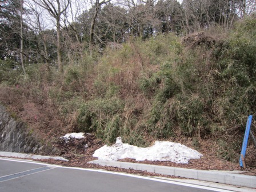
[[85, 56], [64, 75], [28, 66], [23, 80], [6, 67], [0, 99], [42, 137], [86, 131], [106, 143], [187, 140], [197, 149], [210, 139], [215, 154], [237, 161], [256, 111], [255, 37], [256, 20], [247, 18], [228, 34], [130, 38], [97, 65]]

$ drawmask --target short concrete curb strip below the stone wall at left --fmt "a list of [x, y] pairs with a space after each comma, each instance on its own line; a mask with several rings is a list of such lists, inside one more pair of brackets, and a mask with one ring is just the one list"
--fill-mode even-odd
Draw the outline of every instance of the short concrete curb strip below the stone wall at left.
[[55, 160], [59, 160], [59, 161], [69, 161], [63, 157], [33, 155], [33, 154], [25, 154], [25, 153], [13, 153], [13, 152], [5, 152], [5, 151], [0, 151], [0, 156], [15, 157], [15, 158], [30, 158], [30, 159], [55, 159]]

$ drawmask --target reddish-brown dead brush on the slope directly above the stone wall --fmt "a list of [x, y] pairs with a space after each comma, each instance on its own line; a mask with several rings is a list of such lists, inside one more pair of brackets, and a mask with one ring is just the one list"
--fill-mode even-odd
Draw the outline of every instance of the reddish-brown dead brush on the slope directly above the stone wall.
[[66, 132], [65, 121], [53, 102], [46, 98], [45, 93], [42, 94], [35, 94], [25, 86], [0, 87], [0, 101], [11, 114], [26, 122], [30, 133], [51, 141]]

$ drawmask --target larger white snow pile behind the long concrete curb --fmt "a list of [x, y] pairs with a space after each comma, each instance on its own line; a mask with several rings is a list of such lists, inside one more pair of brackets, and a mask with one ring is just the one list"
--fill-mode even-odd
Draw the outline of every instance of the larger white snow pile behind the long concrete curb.
[[93, 157], [107, 161], [131, 158], [136, 161], [171, 161], [175, 163], [189, 163], [189, 159], [199, 159], [202, 154], [180, 143], [169, 141], [155, 141], [151, 147], [137, 147], [122, 143], [120, 137], [112, 146], [103, 146], [96, 150]]

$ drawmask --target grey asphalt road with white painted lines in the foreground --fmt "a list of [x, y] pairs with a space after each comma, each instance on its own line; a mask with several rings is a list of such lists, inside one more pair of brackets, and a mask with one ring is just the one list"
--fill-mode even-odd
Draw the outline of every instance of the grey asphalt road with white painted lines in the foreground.
[[62, 167], [33, 161], [0, 158], [0, 191], [226, 192], [231, 190], [105, 170]]

